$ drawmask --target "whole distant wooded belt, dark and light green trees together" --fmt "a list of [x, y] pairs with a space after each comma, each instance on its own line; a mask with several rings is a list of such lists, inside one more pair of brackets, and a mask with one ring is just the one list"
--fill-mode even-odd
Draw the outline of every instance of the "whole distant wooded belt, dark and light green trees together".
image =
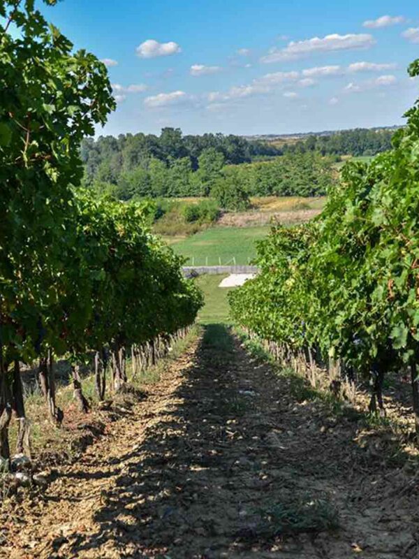
[[359, 129], [275, 147], [239, 136], [182, 136], [179, 129], [165, 128], [160, 136], [85, 139], [81, 157], [84, 184], [121, 200], [209, 196], [232, 175], [249, 196], [317, 196], [334, 182], [334, 157], [388, 150], [391, 137], [392, 131]]

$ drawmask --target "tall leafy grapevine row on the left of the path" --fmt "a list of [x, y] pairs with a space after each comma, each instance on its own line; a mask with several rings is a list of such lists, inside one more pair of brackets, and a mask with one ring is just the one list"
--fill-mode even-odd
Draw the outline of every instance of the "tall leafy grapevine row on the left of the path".
[[[44, 0], [54, 4], [54, 0]], [[80, 143], [115, 109], [104, 64], [73, 45], [34, 7], [0, 0], [0, 470], [10, 465], [8, 427], [29, 451], [20, 366], [38, 363], [52, 422], [54, 359], [96, 355], [96, 390], [127, 380], [126, 356], [161, 352], [203, 304], [182, 261], [147, 228], [148, 203], [124, 204], [81, 187]], [[13, 24], [13, 33], [10, 25]], [[15, 29], [17, 27], [17, 32]], [[26, 447], [26, 448], [25, 448]]]

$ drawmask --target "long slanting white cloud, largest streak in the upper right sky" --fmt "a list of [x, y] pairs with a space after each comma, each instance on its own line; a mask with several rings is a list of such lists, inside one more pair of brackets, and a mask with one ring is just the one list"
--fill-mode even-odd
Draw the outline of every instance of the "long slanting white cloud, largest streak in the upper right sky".
[[271, 49], [270, 53], [260, 59], [267, 64], [284, 60], [297, 59], [309, 56], [316, 52], [331, 52], [335, 50], [353, 50], [369, 48], [375, 44], [372, 35], [369, 34], [348, 34], [326, 35], [323, 38], [313, 37], [305, 41], [291, 41], [285, 48]]

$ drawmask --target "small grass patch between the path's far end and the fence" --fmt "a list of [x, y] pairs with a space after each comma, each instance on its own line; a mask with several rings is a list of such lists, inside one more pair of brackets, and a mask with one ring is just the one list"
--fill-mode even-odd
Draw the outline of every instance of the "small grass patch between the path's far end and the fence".
[[199, 324], [228, 324], [230, 322], [227, 294], [234, 288], [219, 287], [226, 275], [201, 275], [196, 282], [205, 295], [205, 306], [198, 312]]

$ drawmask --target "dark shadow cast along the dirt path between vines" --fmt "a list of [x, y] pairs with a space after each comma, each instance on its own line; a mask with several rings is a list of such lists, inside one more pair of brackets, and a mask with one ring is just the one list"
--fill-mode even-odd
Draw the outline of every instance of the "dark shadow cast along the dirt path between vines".
[[[97, 532], [62, 549], [58, 542], [57, 557], [342, 559], [357, 537], [364, 558], [384, 557], [383, 549], [386, 559], [400, 557], [409, 541], [395, 537], [401, 524], [379, 525], [383, 511], [358, 479], [363, 455], [349, 421], [320, 430], [321, 410], [297, 402], [287, 379], [251, 360], [221, 324], [205, 328], [181, 374], [175, 392], [159, 395], [140, 444], [120, 456], [116, 484], [94, 512]], [[311, 530], [279, 535], [278, 505], [284, 514], [284, 503], [298, 500], [321, 502], [335, 521], [339, 509], [341, 530], [319, 535], [316, 517]]]

